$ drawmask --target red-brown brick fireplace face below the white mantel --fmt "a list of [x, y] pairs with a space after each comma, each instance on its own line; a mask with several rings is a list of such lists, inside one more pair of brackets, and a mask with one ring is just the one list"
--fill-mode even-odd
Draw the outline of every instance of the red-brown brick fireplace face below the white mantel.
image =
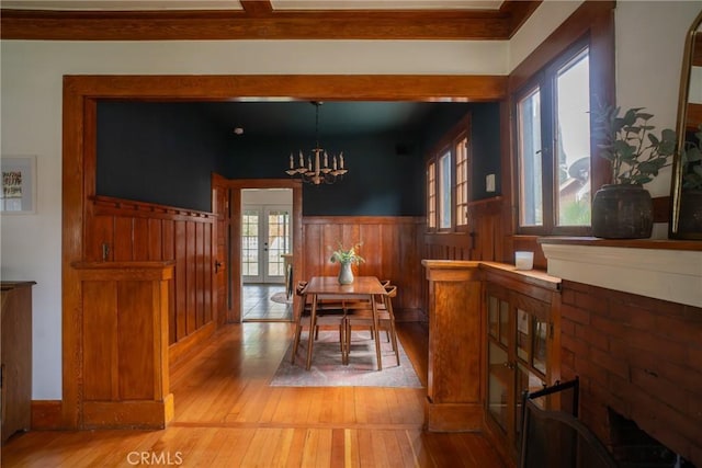
[[702, 467], [702, 308], [566, 279], [562, 299], [562, 378], [580, 378], [584, 423], [615, 456], [631, 420]]

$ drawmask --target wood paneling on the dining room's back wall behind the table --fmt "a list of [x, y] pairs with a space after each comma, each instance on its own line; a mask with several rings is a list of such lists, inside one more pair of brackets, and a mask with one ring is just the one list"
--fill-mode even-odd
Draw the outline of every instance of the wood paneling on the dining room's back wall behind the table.
[[329, 261], [331, 253], [339, 242], [347, 249], [360, 242], [365, 262], [353, 266], [354, 274], [389, 279], [397, 286], [393, 299], [397, 320], [416, 320], [423, 307], [423, 246], [417, 241], [422, 222], [423, 218], [403, 216], [306, 216], [301, 278], [338, 275], [339, 264]]

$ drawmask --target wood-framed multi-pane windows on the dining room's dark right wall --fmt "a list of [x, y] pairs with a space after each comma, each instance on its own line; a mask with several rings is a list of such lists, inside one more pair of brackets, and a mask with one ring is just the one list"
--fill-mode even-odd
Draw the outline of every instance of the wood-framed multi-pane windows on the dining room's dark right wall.
[[[466, 141], [465, 155], [466, 162], [465, 168], [465, 206], [471, 202], [471, 180], [472, 180], [472, 155], [471, 155], [471, 113], [466, 114], [461, 121], [454, 125], [449, 132], [446, 132], [439, 142], [434, 146], [434, 149], [429, 151], [427, 158], [427, 231], [428, 232], [467, 232], [469, 230], [469, 220], [466, 214], [465, 224], [456, 225], [456, 147], [462, 141]], [[451, 226], [442, 228], [440, 219], [440, 161], [444, 155], [449, 155], [451, 159]], [[431, 201], [431, 185], [429, 181], [430, 167], [434, 168], [434, 182], [433, 182], [433, 202]], [[432, 218], [433, 216], [433, 218]], [[431, 221], [433, 219], [433, 226]]]

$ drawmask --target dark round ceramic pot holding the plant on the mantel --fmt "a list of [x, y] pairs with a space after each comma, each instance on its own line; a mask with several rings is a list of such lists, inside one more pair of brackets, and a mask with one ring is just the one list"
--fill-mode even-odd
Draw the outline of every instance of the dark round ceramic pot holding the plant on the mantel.
[[602, 185], [592, 198], [592, 235], [603, 239], [647, 239], [654, 228], [650, 194], [641, 185]]

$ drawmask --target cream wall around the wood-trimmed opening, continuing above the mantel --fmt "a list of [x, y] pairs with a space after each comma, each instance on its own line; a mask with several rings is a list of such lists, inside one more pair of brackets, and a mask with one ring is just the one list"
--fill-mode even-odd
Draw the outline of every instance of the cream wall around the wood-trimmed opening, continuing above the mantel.
[[[516, 64], [519, 57], [525, 56], [555, 27], [553, 18], [575, 10], [577, 3], [542, 3], [524, 26], [531, 28], [530, 34], [535, 39], [520, 34], [511, 44], [455, 41], [3, 41], [0, 44], [1, 151], [2, 155], [37, 156], [37, 214], [7, 216], [0, 220], [0, 275], [4, 279], [37, 282], [33, 296], [33, 398], [61, 398], [64, 75], [505, 75], [511, 69], [510, 62]], [[625, 1], [618, 10], [620, 27], [665, 19], [665, 27], [636, 26], [636, 31], [618, 33], [619, 84], [625, 88], [619, 91], [620, 102], [646, 105], [660, 116], [657, 118], [660, 126], [675, 126], [682, 37], [694, 18], [694, 10], [692, 2], [672, 1]], [[639, 50], [660, 52], [655, 57], [655, 68], [636, 65], [646, 59]], [[668, 183], [669, 178], [663, 182], [664, 185]], [[656, 190], [655, 195], [667, 194], [665, 186]]]

